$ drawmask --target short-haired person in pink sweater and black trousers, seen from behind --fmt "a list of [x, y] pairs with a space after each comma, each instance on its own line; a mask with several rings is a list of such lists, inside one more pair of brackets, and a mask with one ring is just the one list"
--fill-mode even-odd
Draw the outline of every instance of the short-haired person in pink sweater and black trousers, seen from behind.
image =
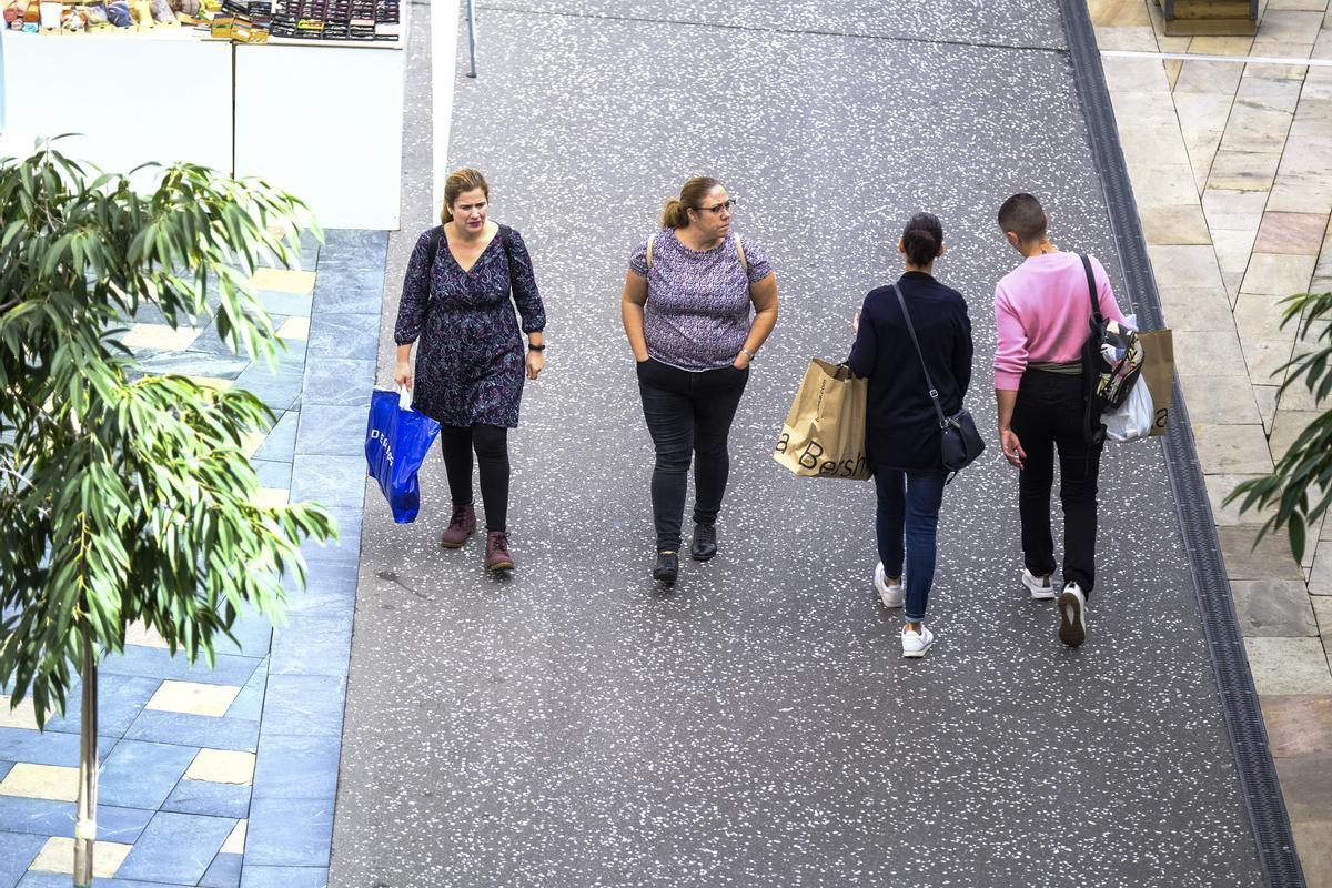
[[[1090, 334], [1087, 272], [1078, 253], [1063, 253], [1046, 230], [1031, 194], [999, 208], [999, 228], [1024, 261], [995, 288], [995, 397], [999, 442], [1016, 469], [1022, 517], [1022, 583], [1034, 599], [1056, 598], [1050, 491], [1059, 451], [1059, 502], [1064, 511], [1059, 638], [1071, 647], [1087, 635], [1087, 596], [1096, 578], [1096, 477], [1100, 435], [1087, 427], [1082, 346]], [[1090, 258], [1102, 314], [1124, 324], [1106, 269]], [[1099, 421], [1094, 419], [1099, 426]]]

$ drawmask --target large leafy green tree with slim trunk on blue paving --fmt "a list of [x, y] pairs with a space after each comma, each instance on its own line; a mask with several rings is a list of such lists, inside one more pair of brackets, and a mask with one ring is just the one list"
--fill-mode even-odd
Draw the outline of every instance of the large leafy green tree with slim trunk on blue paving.
[[123, 345], [151, 301], [172, 326], [214, 314], [233, 347], [272, 366], [281, 343], [246, 269], [292, 264], [296, 232], [313, 226], [305, 205], [189, 164], [153, 181], [135, 192], [49, 142], [0, 161], [0, 682], [44, 726], [81, 672], [80, 887], [97, 663], [137, 620], [212, 664], [244, 607], [280, 618], [284, 571], [304, 583], [301, 541], [334, 535], [320, 506], [256, 505], [244, 447], [273, 422], [258, 398], [144, 374]]

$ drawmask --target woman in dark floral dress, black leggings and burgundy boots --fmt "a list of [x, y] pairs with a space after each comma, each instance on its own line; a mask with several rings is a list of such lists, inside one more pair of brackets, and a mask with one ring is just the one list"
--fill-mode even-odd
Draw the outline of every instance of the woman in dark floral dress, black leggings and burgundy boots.
[[[486, 507], [486, 570], [513, 570], [509, 554], [509, 429], [518, 425], [523, 375], [546, 366], [546, 312], [522, 236], [486, 218], [490, 189], [474, 169], [444, 186], [440, 228], [417, 241], [402, 281], [393, 338], [393, 378], [413, 387], [412, 343], [420, 339], [416, 406], [436, 419], [449, 474], [453, 517], [440, 545], [460, 549], [477, 526], [472, 505], [472, 451], [481, 467]], [[511, 297], [510, 297], [511, 293]], [[522, 337], [514, 305], [527, 334]]]

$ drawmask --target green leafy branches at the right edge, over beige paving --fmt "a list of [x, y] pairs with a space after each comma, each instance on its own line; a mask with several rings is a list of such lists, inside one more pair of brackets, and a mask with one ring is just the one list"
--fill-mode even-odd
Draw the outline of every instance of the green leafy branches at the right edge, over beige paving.
[[[1281, 328], [1295, 325], [1297, 339], [1308, 346], [1277, 373], [1287, 373], [1280, 395], [1303, 385], [1316, 405], [1332, 394], [1332, 293], [1297, 293], [1281, 300]], [[1332, 409], [1325, 410], [1295, 439], [1272, 470], [1251, 478], [1225, 498], [1240, 501], [1240, 511], [1275, 507], [1259, 537], [1287, 529], [1295, 560], [1303, 560], [1309, 529], [1332, 506]]]

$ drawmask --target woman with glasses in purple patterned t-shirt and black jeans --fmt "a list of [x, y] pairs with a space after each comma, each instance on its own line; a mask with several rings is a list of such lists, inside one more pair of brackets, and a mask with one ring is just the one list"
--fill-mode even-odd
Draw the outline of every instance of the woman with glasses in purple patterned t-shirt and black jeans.
[[715, 178], [685, 182], [679, 197], [666, 201], [661, 230], [630, 257], [621, 296], [643, 418], [657, 449], [653, 578], [666, 584], [679, 574], [690, 455], [690, 555], [707, 560], [717, 554], [715, 522], [730, 474], [726, 438], [750, 361], [777, 324], [777, 276], [762, 249], [731, 233], [734, 208]]

